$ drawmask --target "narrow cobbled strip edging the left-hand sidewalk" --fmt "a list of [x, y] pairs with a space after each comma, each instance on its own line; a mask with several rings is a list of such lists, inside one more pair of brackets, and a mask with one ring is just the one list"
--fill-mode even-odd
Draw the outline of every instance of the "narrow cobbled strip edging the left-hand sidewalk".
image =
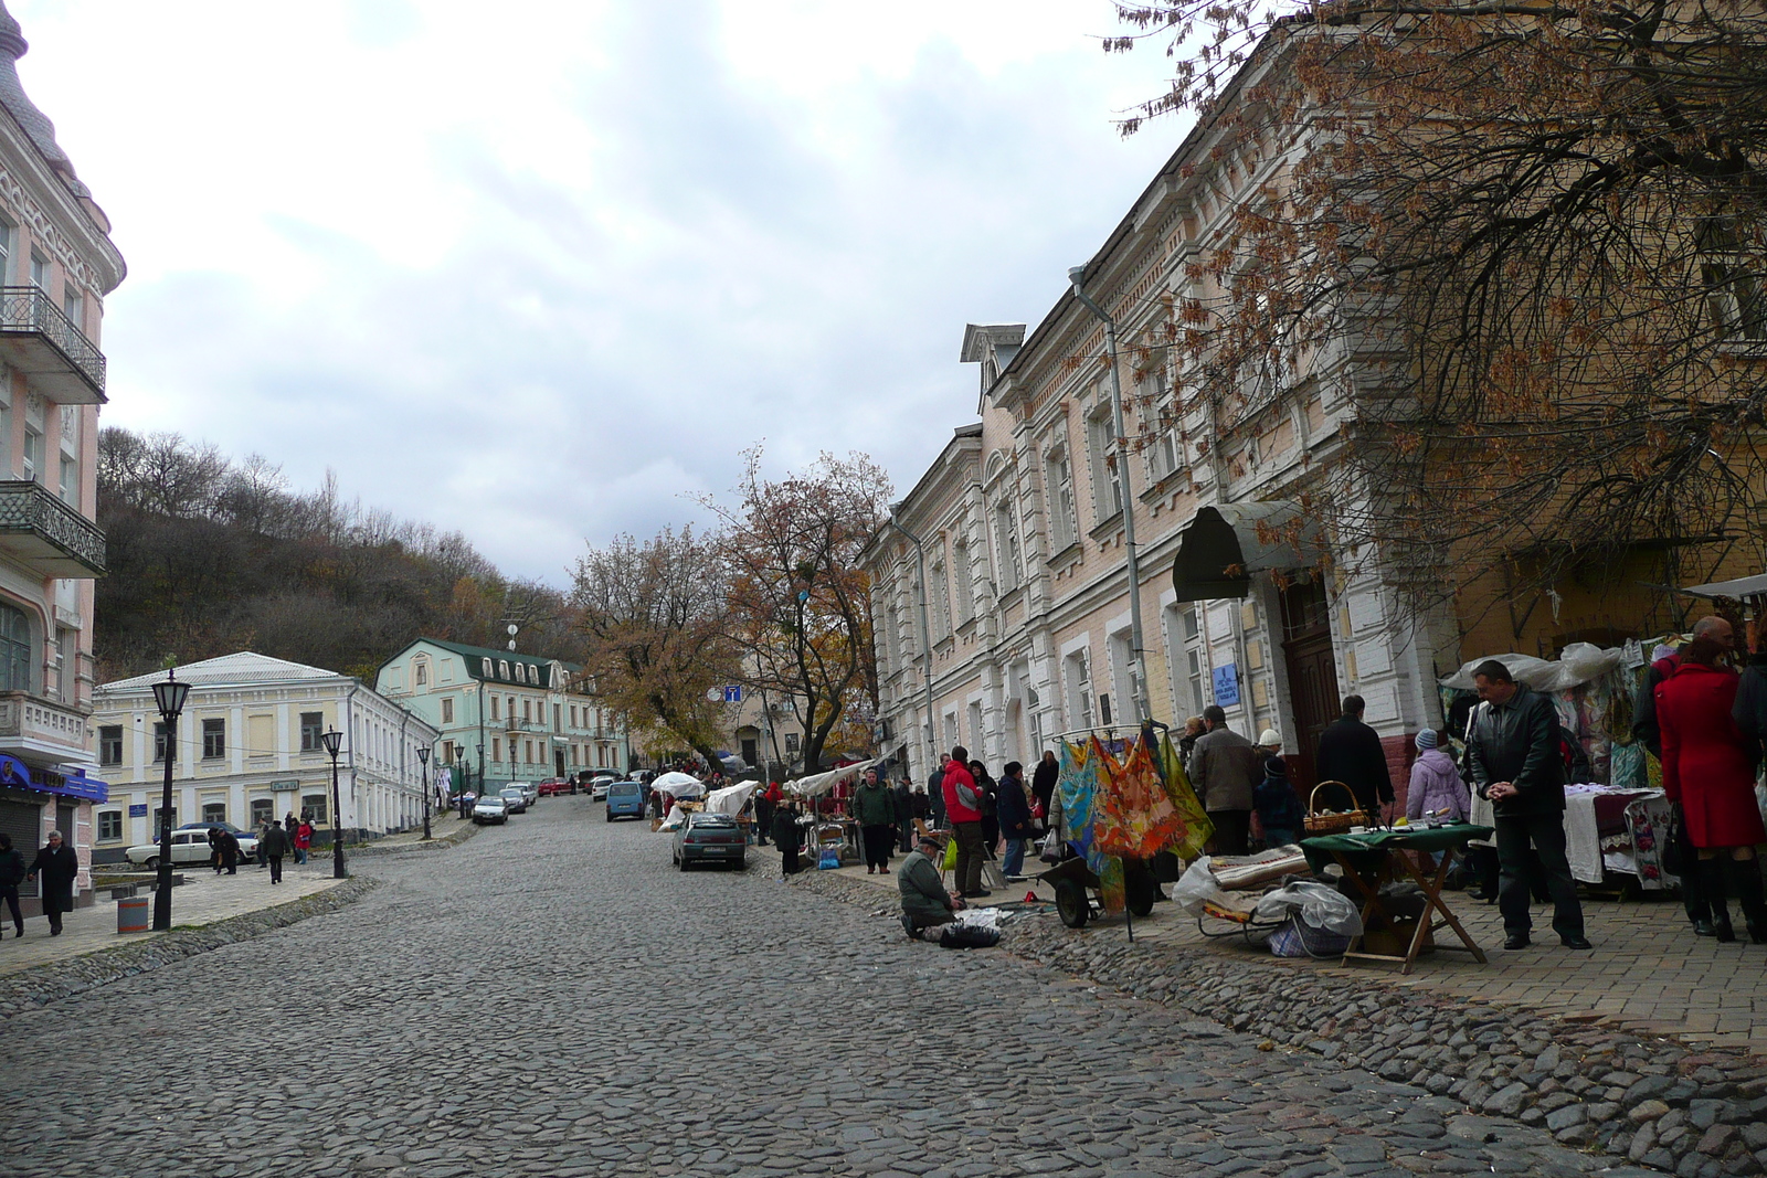
[[334, 888], [302, 895], [300, 899], [240, 913], [214, 924], [171, 929], [145, 941], [131, 941], [115, 948], [49, 961], [30, 970], [19, 970], [0, 978], [0, 1023], [16, 1014], [46, 1007], [51, 1001], [108, 985], [136, 973], [150, 973], [161, 966], [207, 954], [223, 945], [249, 941], [274, 929], [284, 929], [309, 917], [325, 917], [362, 899], [380, 887], [378, 880], [353, 876]]

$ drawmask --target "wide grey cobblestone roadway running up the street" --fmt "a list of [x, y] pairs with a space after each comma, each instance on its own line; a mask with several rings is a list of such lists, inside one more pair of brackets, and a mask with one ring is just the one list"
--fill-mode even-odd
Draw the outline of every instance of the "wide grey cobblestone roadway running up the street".
[[675, 872], [664, 835], [557, 798], [364, 864], [385, 883], [346, 911], [11, 1019], [0, 1174], [1601, 1167], [1421, 1088], [906, 941], [762, 862]]

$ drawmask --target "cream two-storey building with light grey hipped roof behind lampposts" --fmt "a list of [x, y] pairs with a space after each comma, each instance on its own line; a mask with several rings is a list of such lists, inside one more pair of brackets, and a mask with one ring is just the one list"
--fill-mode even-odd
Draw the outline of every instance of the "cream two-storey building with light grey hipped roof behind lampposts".
[[[378, 837], [422, 823], [419, 749], [440, 731], [348, 675], [251, 652], [177, 668], [191, 685], [171, 742], [173, 825], [228, 821], [244, 830], [286, 814], [332, 827], [332, 761], [322, 740], [343, 733], [343, 828]], [[154, 683], [138, 675], [97, 689], [94, 726], [110, 800], [95, 814], [95, 857], [122, 858], [159, 830], [168, 740]]]

